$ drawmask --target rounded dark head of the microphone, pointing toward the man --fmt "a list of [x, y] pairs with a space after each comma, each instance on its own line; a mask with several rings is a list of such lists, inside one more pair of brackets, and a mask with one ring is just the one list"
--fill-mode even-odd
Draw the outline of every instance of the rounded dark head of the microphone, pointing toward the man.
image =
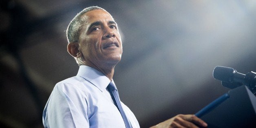
[[234, 68], [216, 66], [213, 70], [213, 77], [214, 79], [230, 83], [235, 72]]

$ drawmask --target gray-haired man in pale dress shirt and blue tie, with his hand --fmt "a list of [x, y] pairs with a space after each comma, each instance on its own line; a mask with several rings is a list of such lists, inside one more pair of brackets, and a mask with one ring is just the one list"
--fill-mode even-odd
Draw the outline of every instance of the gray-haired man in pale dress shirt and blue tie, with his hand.
[[[100, 7], [78, 13], [67, 29], [68, 53], [79, 64], [77, 76], [56, 84], [44, 108], [46, 128], [139, 128], [130, 109], [110, 88], [122, 42], [117, 23]], [[111, 86], [111, 87], [110, 87]], [[206, 127], [194, 115], [177, 115], [154, 128]]]

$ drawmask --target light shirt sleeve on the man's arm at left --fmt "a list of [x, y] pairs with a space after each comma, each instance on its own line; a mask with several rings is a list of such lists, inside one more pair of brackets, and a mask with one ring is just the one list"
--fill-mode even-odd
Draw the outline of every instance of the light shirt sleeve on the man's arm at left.
[[43, 113], [45, 128], [89, 128], [87, 102], [79, 88], [72, 84], [57, 84]]

